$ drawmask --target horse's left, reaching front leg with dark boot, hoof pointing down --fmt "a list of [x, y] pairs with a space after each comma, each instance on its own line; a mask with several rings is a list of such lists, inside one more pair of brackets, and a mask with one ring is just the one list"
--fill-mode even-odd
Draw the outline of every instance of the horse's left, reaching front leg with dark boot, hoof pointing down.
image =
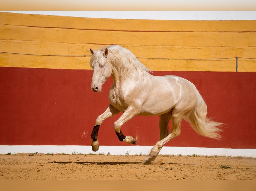
[[112, 117], [113, 115], [119, 113], [120, 111], [117, 110], [115, 107], [113, 107], [112, 105], [109, 105], [108, 108], [106, 109], [106, 111], [104, 113], [102, 113], [101, 115], [99, 115], [95, 121], [95, 126], [93, 127], [92, 133], [91, 133], [91, 139], [92, 139], [92, 150], [93, 151], [97, 151], [99, 150], [99, 141], [98, 141], [98, 131], [100, 128], [101, 123], [109, 118]]

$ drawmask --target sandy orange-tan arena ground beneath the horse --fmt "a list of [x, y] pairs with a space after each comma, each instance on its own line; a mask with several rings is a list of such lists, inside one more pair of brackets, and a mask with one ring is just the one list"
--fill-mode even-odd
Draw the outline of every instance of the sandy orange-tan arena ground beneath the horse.
[[0, 180], [256, 180], [256, 158], [80, 154], [0, 154]]

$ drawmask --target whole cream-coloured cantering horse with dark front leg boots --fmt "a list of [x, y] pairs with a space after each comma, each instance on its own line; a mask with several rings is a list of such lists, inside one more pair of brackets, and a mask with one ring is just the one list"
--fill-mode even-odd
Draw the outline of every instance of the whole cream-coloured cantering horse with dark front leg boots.
[[[90, 66], [93, 68], [91, 88], [100, 92], [107, 78], [113, 77], [109, 90], [110, 104], [99, 115], [93, 128], [92, 150], [99, 149], [97, 140], [101, 123], [119, 113], [123, 114], [114, 122], [114, 130], [122, 142], [136, 144], [132, 136], [124, 136], [121, 126], [135, 115], [159, 115], [160, 141], [151, 149], [144, 164], [153, 163], [163, 145], [180, 135], [181, 121], [188, 121], [200, 135], [219, 139], [221, 123], [206, 117], [207, 106], [198, 90], [188, 80], [178, 76], [153, 76], [134, 54], [118, 45], [94, 51]], [[169, 133], [169, 121], [172, 130]]]

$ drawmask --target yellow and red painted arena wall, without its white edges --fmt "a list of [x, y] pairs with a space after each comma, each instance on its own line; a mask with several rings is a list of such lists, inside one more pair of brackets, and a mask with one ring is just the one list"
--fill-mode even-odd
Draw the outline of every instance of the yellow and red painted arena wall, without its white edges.
[[[222, 140], [197, 135], [184, 121], [174, 147], [256, 149], [256, 21], [94, 19], [0, 12], [0, 145], [90, 145], [108, 89], [90, 89], [89, 48], [119, 44], [153, 75], [193, 82], [208, 116], [226, 124]], [[238, 67], [236, 72], [236, 61]], [[120, 115], [118, 115], [120, 116]], [[113, 122], [101, 145], [124, 145]], [[159, 139], [158, 117], [136, 116], [122, 126], [137, 145]]]

